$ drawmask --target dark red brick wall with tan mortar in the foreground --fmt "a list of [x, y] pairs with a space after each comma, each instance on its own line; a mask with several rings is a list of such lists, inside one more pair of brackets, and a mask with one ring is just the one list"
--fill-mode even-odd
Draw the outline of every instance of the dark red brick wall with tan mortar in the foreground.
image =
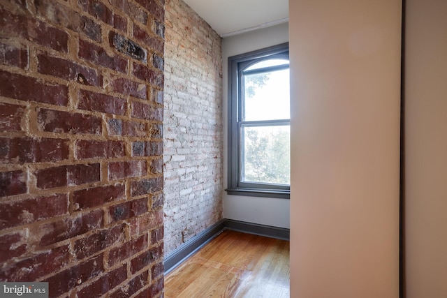
[[163, 0], [0, 4], [0, 281], [161, 297]]

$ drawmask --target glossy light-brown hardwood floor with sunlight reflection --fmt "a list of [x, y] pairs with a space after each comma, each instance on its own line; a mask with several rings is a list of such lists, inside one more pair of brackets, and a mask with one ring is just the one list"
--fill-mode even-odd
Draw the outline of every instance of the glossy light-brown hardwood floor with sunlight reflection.
[[165, 298], [289, 296], [288, 241], [232, 230], [165, 276]]

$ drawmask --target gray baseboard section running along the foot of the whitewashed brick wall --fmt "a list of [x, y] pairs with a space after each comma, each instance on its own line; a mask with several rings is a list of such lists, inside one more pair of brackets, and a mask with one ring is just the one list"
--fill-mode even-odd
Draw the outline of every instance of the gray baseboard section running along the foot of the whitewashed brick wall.
[[193, 255], [193, 253], [196, 253], [198, 249], [207, 244], [207, 242], [211, 241], [211, 239], [220, 234], [225, 228], [224, 223], [224, 219], [214, 223], [214, 225], [210, 228], [196, 234], [196, 236], [189, 239], [189, 241], [186, 241], [184, 244], [179, 246], [179, 248], [173, 251], [173, 253], [170, 253], [170, 255], [168, 255], [163, 262], [165, 274], [168, 274], [171, 270], [180, 265], [180, 263]]

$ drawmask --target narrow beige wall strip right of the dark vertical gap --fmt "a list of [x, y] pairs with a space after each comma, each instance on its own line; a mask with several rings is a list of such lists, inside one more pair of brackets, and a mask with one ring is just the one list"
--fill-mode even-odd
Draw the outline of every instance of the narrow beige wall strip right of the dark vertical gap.
[[406, 297], [447, 297], [447, 2], [407, 0]]

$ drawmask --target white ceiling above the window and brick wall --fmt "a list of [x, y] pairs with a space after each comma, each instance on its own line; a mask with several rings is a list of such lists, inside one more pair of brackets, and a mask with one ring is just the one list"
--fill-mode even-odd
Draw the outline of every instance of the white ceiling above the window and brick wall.
[[184, 0], [222, 37], [288, 22], [288, 0]]

